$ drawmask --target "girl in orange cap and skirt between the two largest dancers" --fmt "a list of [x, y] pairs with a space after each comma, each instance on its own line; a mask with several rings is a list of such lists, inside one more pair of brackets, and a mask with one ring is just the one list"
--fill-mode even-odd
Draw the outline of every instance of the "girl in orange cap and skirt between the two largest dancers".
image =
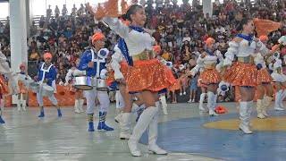
[[206, 85], [207, 88], [207, 107], [208, 114], [217, 116], [215, 113], [215, 106], [217, 100], [217, 88], [222, 78], [220, 73], [216, 70], [216, 62], [219, 60], [223, 62], [223, 55], [220, 51], [214, 50], [214, 38], [206, 39], [206, 51], [198, 57], [198, 64], [190, 72], [195, 75], [200, 67], [204, 71], [200, 73], [201, 83]]

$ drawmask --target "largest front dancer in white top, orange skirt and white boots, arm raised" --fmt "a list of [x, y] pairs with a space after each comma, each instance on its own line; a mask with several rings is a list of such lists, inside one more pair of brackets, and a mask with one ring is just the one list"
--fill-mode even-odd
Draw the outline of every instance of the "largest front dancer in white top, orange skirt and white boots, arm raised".
[[126, 13], [127, 19], [131, 22], [130, 26], [122, 23], [118, 18], [98, 17], [89, 4], [87, 4], [87, 9], [97, 21], [105, 21], [110, 29], [121, 37], [118, 47], [127, 58], [127, 64], [130, 65], [126, 78], [126, 90], [128, 92], [140, 92], [146, 106], [133, 129], [130, 140], [128, 140], [130, 153], [134, 157], [141, 156], [138, 143], [148, 127], [148, 150], [158, 155], [166, 155], [167, 152], [156, 145], [159, 110], [158, 91], [171, 87], [175, 79], [172, 72], [154, 58], [155, 38], [145, 32], [147, 30], [141, 28], [146, 21], [144, 8], [138, 4], [130, 6]]

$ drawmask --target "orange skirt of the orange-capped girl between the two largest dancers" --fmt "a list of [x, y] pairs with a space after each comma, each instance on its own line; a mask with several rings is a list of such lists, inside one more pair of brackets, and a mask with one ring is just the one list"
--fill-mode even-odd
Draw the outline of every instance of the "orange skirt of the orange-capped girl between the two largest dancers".
[[212, 70], [204, 70], [200, 74], [201, 83], [202, 84], [218, 84], [222, 81], [222, 76], [217, 70], [214, 68]]

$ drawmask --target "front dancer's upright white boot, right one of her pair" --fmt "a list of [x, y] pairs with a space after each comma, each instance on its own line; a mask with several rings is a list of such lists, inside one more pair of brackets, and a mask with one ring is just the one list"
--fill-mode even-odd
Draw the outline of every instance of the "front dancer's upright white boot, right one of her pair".
[[158, 114], [152, 119], [148, 127], [148, 150], [157, 155], [166, 155], [167, 151], [157, 146], [156, 141], [158, 137]]

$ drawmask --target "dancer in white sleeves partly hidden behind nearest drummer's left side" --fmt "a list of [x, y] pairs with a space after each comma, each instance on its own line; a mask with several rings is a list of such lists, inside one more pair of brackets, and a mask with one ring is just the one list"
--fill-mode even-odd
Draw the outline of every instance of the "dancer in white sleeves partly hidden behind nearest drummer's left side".
[[[75, 61], [75, 64], [76, 64], [76, 67], [72, 67], [68, 73], [66, 73], [66, 76], [65, 76], [65, 83], [64, 83], [64, 86], [68, 86], [69, 83], [71, 83], [71, 91], [74, 91], [77, 98], [74, 100], [74, 112], [76, 114], [80, 114], [80, 113], [83, 113], [83, 104], [84, 104], [84, 99], [81, 97], [81, 90], [80, 89], [74, 89], [72, 88], [72, 84], [73, 84], [73, 78], [75, 76], [79, 76], [79, 75], [76, 75], [76, 73], [79, 73], [78, 72], [78, 68], [80, 66], [80, 58], [78, 58], [76, 61]], [[71, 82], [70, 82], [71, 81]]]

